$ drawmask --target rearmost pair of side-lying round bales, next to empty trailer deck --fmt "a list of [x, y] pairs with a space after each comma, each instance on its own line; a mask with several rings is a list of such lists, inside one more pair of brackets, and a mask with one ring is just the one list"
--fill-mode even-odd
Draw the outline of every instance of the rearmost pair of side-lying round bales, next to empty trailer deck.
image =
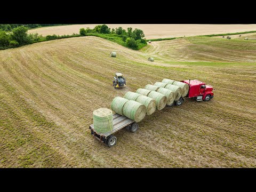
[[119, 115], [126, 116], [135, 122], [140, 122], [146, 115], [146, 107], [141, 103], [121, 97], [115, 97], [111, 109]]

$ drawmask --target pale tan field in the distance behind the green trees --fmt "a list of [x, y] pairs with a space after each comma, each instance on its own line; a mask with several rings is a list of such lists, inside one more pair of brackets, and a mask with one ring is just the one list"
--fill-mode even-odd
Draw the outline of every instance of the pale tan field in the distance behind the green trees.
[[[84, 24], [84, 25], [67, 25], [67, 26], [53, 26], [41, 27], [29, 30], [29, 33], [38, 33], [43, 36], [46, 35], [71, 35], [78, 34], [81, 28], [94, 28], [99, 24]], [[132, 27], [144, 31], [147, 39], [155, 38], [170, 38], [196, 35], [210, 35], [223, 33], [236, 33], [244, 31], [256, 30], [256, 24], [250, 25], [198, 25], [198, 24], [107, 24], [110, 28], [123, 27], [127, 29]]]

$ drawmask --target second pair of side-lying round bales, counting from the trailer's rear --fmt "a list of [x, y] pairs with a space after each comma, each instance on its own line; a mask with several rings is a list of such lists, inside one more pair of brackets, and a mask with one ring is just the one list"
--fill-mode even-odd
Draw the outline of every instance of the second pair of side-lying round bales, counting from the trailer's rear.
[[137, 101], [137, 102], [145, 105], [146, 115], [151, 115], [156, 110], [156, 100], [149, 98], [145, 95], [141, 95], [141, 94], [129, 91], [129, 92], [125, 93], [124, 98], [133, 100], [133, 101]]

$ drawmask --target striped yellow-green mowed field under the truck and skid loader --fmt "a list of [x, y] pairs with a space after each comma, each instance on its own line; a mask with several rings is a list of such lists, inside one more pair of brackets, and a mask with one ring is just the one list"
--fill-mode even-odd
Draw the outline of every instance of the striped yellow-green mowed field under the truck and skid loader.
[[[256, 167], [255, 62], [256, 41], [217, 37], [140, 51], [76, 37], [0, 51], [0, 167]], [[113, 88], [116, 72], [126, 89]], [[156, 111], [112, 148], [92, 137], [93, 110], [163, 78], [200, 79], [214, 98]]]

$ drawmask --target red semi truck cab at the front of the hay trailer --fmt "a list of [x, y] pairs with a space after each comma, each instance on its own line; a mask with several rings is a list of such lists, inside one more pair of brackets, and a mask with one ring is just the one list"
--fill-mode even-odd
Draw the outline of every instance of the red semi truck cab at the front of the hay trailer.
[[189, 85], [188, 98], [196, 98], [197, 101], [210, 101], [213, 98], [213, 87], [204, 82], [195, 80], [181, 81]]

